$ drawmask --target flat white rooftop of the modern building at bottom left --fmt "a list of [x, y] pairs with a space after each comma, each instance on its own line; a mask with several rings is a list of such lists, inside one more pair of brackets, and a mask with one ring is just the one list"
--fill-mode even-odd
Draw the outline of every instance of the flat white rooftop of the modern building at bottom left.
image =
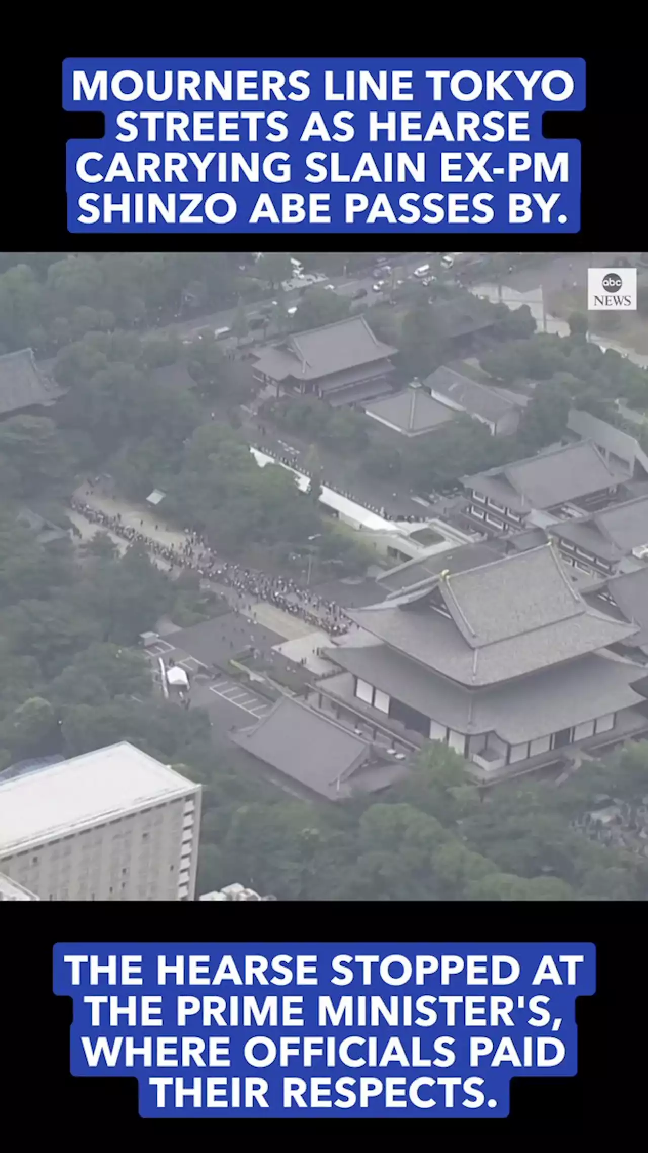
[[128, 741], [0, 783], [0, 858], [197, 786]]

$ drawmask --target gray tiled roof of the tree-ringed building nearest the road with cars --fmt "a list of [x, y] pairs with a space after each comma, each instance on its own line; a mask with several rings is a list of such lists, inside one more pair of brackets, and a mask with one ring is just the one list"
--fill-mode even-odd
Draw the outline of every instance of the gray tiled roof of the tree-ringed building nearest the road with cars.
[[334, 372], [388, 360], [396, 352], [374, 337], [363, 316], [353, 316], [321, 329], [297, 332], [283, 345], [261, 348], [254, 369], [274, 380], [289, 376], [318, 380]]

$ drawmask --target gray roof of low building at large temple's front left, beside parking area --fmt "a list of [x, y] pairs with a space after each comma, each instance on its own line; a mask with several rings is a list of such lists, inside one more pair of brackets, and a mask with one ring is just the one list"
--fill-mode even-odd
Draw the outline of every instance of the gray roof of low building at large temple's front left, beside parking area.
[[371, 755], [368, 741], [290, 698], [253, 728], [229, 736], [257, 760], [329, 800], [348, 793], [344, 779]]

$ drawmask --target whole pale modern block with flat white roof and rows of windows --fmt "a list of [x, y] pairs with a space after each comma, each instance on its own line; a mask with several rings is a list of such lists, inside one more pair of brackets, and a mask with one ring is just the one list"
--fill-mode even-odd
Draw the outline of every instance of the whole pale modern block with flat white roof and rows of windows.
[[40, 900], [193, 900], [199, 827], [200, 785], [127, 741], [0, 782], [0, 872]]

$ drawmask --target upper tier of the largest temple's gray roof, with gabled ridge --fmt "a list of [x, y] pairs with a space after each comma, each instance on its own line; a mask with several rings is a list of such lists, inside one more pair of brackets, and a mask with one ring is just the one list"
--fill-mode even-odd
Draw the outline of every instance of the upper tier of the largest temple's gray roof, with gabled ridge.
[[[435, 597], [449, 616], [433, 608]], [[550, 545], [348, 615], [391, 648], [468, 686], [557, 665], [636, 632], [590, 609]]]

